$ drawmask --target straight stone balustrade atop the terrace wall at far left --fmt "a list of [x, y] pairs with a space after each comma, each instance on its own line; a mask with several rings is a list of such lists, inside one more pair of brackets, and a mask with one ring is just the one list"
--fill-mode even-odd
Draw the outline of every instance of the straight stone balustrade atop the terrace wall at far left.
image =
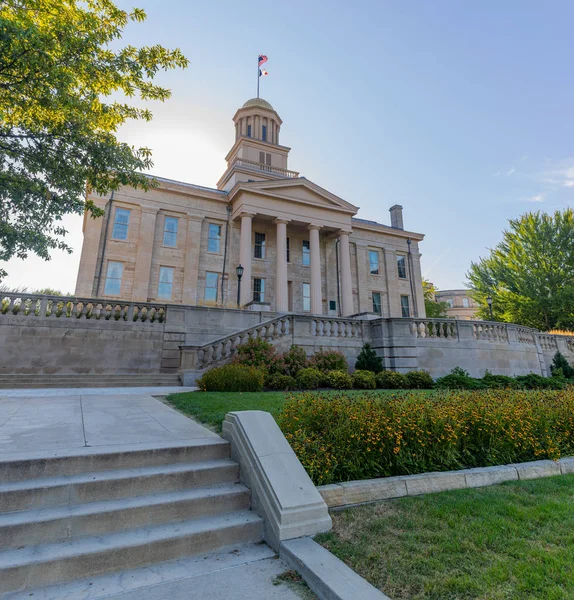
[[5, 318], [21, 315], [31, 319], [75, 318], [163, 323], [166, 306], [146, 302], [4, 292], [0, 294], [0, 315]]

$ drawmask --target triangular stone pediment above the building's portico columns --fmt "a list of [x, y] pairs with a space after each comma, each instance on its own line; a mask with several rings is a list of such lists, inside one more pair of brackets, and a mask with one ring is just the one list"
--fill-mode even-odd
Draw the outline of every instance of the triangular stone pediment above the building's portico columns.
[[241, 183], [231, 191], [230, 196], [234, 196], [240, 191], [249, 191], [278, 199], [291, 200], [292, 202], [320, 206], [353, 215], [358, 211], [356, 206], [302, 177]]

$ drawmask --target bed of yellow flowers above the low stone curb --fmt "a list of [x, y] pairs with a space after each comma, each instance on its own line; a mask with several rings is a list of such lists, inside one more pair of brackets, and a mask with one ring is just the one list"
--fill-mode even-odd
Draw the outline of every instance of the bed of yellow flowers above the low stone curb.
[[317, 484], [574, 454], [574, 391], [291, 396], [278, 418]]

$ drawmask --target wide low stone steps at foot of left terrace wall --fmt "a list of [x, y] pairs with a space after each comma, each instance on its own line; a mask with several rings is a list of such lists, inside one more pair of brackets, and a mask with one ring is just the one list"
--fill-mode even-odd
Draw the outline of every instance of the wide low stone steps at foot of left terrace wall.
[[0, 375], [0, 389], [180, 386], [177, 373]]

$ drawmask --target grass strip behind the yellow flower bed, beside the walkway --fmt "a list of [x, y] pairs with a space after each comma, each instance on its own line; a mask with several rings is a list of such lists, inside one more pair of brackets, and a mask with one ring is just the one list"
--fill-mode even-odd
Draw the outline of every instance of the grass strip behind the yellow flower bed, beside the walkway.
[[[426, 391], [426, 390], [425, 390]], [[365, 390], [349, 390], [343, 392], [350, 396], [364, 394]], [[371, 394], [388, 394], [396, 390], [376, 390]], [[423, 392], [421, 390], [421, 392]], [[185, 392], [170, 394], [167, 401], [174, 408], [196, 421], [207, 425], [218, 433], [225, 415], [234, 410], [264, 410], [277, 417], [285, 399], [297, 392]], [[327, 394], [341, 393], [335, 390], [323, 392]], [[423, 392], [424, 393], [424, 392]]]

